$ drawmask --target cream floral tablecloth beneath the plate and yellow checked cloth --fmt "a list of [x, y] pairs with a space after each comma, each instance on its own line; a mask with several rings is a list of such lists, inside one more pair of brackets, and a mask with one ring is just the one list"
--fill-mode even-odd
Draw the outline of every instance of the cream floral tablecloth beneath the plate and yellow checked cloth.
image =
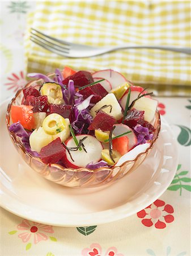
[[[1, 102], [26, 84], [23, 35], [35, 2], [1, 2]], [[2, 256], [190, 255], [189, 98], [158, 98], [158, 109], [179, 144], [179, 165], [167, 191], [124, 220], [98, 226], [62, 228], [14, 216], [0, 208]]]

